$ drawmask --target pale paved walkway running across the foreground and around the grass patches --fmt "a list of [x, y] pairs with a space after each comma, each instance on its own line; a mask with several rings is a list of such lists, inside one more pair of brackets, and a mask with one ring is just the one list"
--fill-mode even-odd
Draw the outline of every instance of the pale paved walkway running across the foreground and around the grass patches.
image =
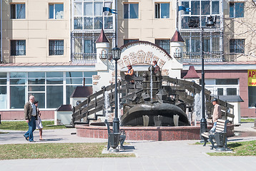
[[[1, 130], [2, 131], [2, 130]], [[75, 129], [44, 130], [44, 142], [107, 142], [104, 139], [79, 138]], [[246, 133], [255, 136], [244, 136]], [[256, 130], [252, 124], [242, 124], [235, 128], [238, 135], [228, 138], [231, 142], [256, 140]], [[0, 144], [28, 143], [23, 138], [24, 131], [9, 131], [0, 135]], [[37, 143], [39, 133], [34, 133]], [[255, 170], [256, 157], [212, 157], [206, 152], [210, 145], [192, 145], [198, 140], [184, 141], [129, 141], [129, 147], [137, 157], [134, 158], [69, 158], [69, 159], [36, 159], [36, 160], [0, 160], [0, 170]], [[130, 150], [129, 150], [130, 151]]]

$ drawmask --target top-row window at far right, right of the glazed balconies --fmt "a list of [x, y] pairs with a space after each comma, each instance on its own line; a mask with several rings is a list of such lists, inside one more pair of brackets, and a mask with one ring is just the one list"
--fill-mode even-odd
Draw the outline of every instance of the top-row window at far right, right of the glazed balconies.
[[244, 17], [244, 11], [244, 2], [230, 2], [230, 18]]

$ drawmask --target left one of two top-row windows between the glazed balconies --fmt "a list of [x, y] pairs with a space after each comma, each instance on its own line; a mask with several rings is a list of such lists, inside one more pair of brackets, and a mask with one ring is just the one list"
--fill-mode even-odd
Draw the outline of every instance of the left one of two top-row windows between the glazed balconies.
[[139, 19], [139, 4], [124, 4], [124, 19]]

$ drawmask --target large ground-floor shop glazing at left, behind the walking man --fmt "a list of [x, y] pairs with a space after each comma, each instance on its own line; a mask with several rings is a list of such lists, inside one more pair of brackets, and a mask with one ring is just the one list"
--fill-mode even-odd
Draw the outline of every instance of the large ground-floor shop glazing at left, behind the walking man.
[[97, 72], [0, 73], [0, 109], [24, 108], [30, 95], [39, 100], [39, 108], [58, 108], [69, 104], [74, 88], [92, 86], [93, 75]]

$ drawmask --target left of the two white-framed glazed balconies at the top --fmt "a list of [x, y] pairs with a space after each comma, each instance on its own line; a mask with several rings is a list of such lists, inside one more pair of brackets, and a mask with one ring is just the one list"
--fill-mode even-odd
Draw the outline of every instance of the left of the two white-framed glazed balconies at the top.
[[105, 11], [103, 7], [112, 9], [112, 2], [93, 1], [93, 0], [75, 0], [74, 1], [74, 29], [93, 30], [93, 29], [113, 29], [114, 14]]

